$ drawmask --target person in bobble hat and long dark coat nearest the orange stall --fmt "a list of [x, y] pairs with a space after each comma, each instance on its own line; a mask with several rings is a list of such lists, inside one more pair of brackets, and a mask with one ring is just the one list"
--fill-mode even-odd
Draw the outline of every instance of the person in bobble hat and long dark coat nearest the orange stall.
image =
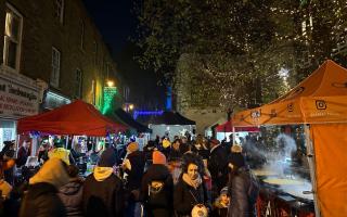
[[250, 204], [248, 189], [250, 171], [242, 153], [231, 153], [229, 157], [231, 203], [228, 217], [255, 217], [255, 204]]

